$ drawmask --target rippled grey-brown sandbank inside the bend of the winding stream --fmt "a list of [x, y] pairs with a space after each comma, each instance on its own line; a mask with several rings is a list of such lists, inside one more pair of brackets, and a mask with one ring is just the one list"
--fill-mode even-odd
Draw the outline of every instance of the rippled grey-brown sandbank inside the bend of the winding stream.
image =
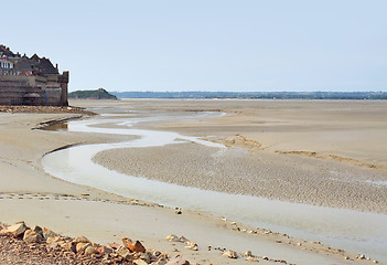
[[197, 144], [106, 150], [94, 161], [126, 174], [204, 190], [387, 213], [387, 187], [377, 184], [387, 172], [336, 161]]

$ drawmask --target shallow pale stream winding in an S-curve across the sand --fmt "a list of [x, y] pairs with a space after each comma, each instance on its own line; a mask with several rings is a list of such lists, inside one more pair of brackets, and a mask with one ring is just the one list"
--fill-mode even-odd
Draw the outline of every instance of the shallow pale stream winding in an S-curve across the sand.
[[[205, 118], [223, 114], [197, 114], [186, 118]], [[222, 145], [182, 136], [171, 131], [141, 130], [133, 124], [176, 119], [176, 116], [136, 118], [119, 114], [105, 115], [104, 119], [69, 121], [68, 131], [136, 135], [140, 139], [118, 142], [76, 146], [46, 155], [42, 159], [44, 169], [57, 178], [114, 192], [128, 198], [155, 202], [168, 206], [180, 206], [216, 215], [250, 225], [270, 229], [291, 236], [321, 241], [336, 248], [366, 254], [372, 258], [387, 262], [387, 215], [365, 213], [345, 209], [322, 208], [290, 203], [265, 198], [227, 194], [181, 187], [161, 181], [131, 177], [106, 169], [92, 161], [99, 151], [112, 148], [141, 148], [164, 146], [184, 141], [225, 148]], [[120, 128], [98, 128], [109, 123]], [[93, 125], [93, 127], [90, 127]], [[126, 126], [127, 128], [122, 128]]]

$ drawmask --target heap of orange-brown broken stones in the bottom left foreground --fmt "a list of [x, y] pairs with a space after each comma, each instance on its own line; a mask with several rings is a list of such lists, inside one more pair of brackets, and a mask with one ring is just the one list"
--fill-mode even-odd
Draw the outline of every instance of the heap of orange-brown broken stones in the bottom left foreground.
[[[184, 236], [172, 240], [189, 242]], [[85, 236], [72, 239], [40, 226], [29, 227], [24, 222], [13, 225], [0, 223], [0, 264], [128, 264], [128, 265], [190, 265], [181, 256], [147, 250], [141, 242], [122, 239], [122, 245], [100, 245]]]

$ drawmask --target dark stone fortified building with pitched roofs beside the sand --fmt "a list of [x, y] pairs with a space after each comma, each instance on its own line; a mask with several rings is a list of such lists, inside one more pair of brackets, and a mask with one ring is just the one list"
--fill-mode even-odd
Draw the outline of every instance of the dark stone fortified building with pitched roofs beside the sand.
[[0, 105], [67, 106], [68, 72], [36, 54], [14, 54], [0, 45]]

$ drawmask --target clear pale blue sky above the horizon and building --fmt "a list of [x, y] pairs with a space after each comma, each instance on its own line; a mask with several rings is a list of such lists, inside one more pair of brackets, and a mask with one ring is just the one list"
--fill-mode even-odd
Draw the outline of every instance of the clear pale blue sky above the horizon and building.
[[2, 1], [69, 91], [387, 91], [386, 0]]

